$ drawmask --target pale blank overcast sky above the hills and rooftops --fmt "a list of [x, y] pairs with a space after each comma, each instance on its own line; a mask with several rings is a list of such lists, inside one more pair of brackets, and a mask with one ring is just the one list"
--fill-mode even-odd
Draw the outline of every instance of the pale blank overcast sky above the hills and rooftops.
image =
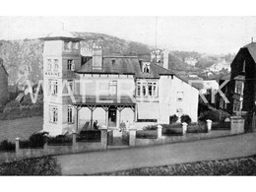
[[[0, 39], [60, 31], [100, 32], [149, 45], [156, 43], [156, 17], [0, 17]], [[236, 53], [256, 40], [256, 17], [158, 17], [158, 47], [212, 54]]]

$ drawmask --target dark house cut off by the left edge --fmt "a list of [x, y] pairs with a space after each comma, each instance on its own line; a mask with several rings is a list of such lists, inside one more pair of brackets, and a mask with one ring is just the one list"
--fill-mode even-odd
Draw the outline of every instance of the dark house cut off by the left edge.
[[8, 94], [8, 73], [4, 67], [4, 61], [0, 58], [0, 109], [9, 99]]

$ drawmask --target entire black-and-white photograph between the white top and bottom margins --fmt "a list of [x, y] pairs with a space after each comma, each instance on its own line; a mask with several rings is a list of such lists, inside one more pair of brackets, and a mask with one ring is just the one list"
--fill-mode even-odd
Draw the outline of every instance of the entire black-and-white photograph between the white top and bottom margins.
[[62, 13], [0, 16], [0, 175], [256, 175], [255, 16]]

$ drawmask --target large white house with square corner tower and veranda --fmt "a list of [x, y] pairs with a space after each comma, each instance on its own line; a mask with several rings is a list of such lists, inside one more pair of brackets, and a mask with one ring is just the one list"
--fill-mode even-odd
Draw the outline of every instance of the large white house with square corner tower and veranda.
[[104, 55], [94, 44], [81, 49], [69, 32], [42, 38], [43, 130], [50, 135], [93, 129], [118, 129], [121, 122], [169, 123], [188, 114], [197, 121], [198, 90], [156, 62], [136, 56]]

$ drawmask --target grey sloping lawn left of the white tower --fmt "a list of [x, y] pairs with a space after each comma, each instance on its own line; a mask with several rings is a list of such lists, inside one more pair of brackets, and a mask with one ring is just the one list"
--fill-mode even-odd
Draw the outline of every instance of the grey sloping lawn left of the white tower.
[[29, 139], [32, 133], [42, 129], [42, 117], [32, 117], [14, 120], [0, 120], [0, 142], [8, 139], [11, 142], [15, 138]]

